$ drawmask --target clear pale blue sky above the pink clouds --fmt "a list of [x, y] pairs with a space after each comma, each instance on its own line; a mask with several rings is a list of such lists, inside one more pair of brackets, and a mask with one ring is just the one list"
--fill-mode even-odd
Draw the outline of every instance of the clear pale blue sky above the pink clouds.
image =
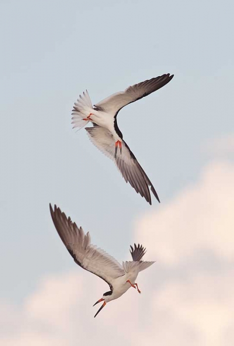
[[[133, 220], [197, 179], [202, 147], [233, 132], [231, 1], [0, 2], [1, 299], [71, 268], [48, 205], [122, 259]], [[161, 200], [150, 207], [114, 164], [72, 130], [84, 89], [93, 103], [164, 73], [174, 79], [118, 115]]]

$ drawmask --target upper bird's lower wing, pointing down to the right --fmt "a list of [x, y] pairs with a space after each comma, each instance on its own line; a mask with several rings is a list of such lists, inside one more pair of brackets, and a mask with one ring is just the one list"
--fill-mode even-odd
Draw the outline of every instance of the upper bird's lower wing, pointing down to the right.
[[151, 204], [151, 195], [149, 190], [149, 186], [151, 186], [151, 191], [158, 202], [160, 202], [152, 182], [124, 140], [122, 140], [122, 152], [120, 153], [118, 150], [117, 155], [115, 155], [115, 139], [109, 130], [100, 126], [85, 128], [85, 130], [88, 132], [92, 143], [105, 155], [115, 161], [117, 168], [125, 181], [129, 181], [137, 193], [140, 193], [140, 195]]

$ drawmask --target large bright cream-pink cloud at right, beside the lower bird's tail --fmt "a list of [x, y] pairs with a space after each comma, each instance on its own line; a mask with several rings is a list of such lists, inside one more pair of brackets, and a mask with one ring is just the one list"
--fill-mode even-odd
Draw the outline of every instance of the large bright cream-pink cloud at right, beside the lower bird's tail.
[[234, 165], [211, 163], [198, 182], [136, 222], [148, 257], [167, 264], [198, 250], [234, 259]]

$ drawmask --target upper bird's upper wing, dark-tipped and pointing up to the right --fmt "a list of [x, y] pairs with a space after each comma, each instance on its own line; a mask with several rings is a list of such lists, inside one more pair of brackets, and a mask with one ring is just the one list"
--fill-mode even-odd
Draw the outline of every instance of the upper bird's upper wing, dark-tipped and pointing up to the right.
[[135, 84], [134, 86], [126, 88], [124, 91], [119, 91], [99, 103], [94, 107], [106, 113], [117, 116], [121, 108], [129, 103], [135, 102], [142, 97], [145, 97], [152, 92], [164, 87], [174, 77], [168, 73], [166, 75], [158, 76], [150, 80]]

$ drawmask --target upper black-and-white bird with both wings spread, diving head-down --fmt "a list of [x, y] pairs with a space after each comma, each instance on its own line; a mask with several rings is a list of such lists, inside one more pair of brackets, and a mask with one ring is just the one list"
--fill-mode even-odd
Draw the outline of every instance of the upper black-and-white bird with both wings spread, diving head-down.
[[94, 106], [86, 90], [79, 95], [72, 111], [73, 128], [81, 129], [88, 122], [92, 122], [93, 127], [85, 128], [91, 142], [116, 163], [125, 181], [129, 181], [136, 192], [140, 193], [150, 205], [152, 202], [149, 186], [158, 202], [159, 198], [152, 182], [123, 140], [123, 135], [117, 126], [117, 114], [127, 104], [165, 86], [173, 76], [168, 73], [127, 87], [124, 91], [119, 91]]

